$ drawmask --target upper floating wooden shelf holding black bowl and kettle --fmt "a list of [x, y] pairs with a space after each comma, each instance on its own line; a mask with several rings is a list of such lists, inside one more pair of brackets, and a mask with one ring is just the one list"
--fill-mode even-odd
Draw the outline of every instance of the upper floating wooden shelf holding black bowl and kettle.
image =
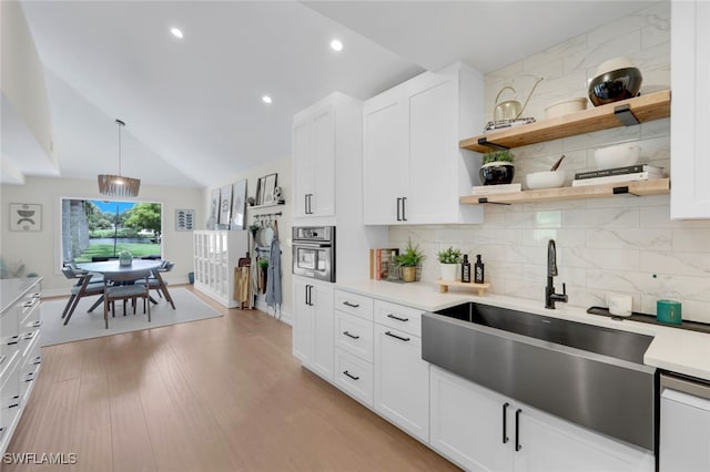
[[662, 90], [551, 120], [491, 131], [463, 140], [459, 142], [459, 146], [486, 153], [491, 148], [520, 147], [668, 116], [670, 116], [670, 90]]

